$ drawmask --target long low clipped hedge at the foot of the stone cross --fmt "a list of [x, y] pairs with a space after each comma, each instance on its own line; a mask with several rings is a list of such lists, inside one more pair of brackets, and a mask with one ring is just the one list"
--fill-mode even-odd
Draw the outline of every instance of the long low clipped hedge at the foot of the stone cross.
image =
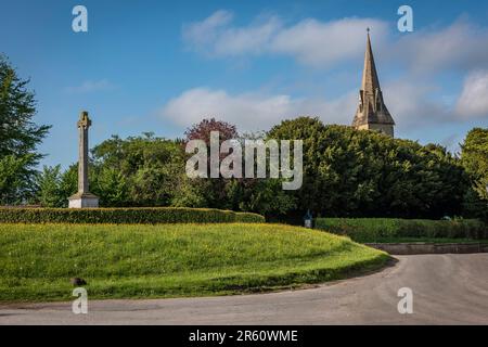
[[4, 223], [227, 223], [265, 222], [257, 214], [211, 208], [0, 208]]

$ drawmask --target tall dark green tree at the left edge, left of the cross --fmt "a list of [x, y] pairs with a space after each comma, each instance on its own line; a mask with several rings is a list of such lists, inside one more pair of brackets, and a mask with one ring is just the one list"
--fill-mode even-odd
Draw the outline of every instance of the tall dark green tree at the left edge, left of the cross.
[[0, 55], [0, 175], [9, 182], [0, 184], [0, 204], [18, 204], [33, 196], [35, 167], [42, 158], [37, 146], [50, 129], [33, 120], [36, 101], [28, 82]]

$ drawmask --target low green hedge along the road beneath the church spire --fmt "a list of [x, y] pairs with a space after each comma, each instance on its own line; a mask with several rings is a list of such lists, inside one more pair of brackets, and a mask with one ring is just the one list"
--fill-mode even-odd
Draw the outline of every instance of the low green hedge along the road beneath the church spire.
[[476, 219], [318, 218], [316, 228], [357, 242], [390, 237], [488, 239], [488, 227]]

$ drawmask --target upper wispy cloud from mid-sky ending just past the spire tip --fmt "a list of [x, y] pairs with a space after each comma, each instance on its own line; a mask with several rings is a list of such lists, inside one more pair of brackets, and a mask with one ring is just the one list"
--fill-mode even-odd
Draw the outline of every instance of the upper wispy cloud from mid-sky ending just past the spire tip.
[[232, 13], [217, 11], [185, 25], [183, 39], [190, 49], [208, 56], [283, 54], [324, 67], [361, 56], [367, 27], [374, 28], [378, 46], [387, 33], [386, 23], [374, 18], [306, 18], [285, 26], [278, 16], [264, 16], [242, 27], [231, 26], [232, 18]]

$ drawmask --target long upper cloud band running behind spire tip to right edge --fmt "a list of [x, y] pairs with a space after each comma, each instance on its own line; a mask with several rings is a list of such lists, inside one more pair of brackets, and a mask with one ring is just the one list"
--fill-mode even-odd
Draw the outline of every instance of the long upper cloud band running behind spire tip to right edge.
[[376, 55], [411, 72], [472, 70], [488, 66], [488, 28], [461, 17], [447, 27], [426, 27], [398, 36], [396, 25], [376, 18], [346, 17], [322, 22], [305, 18], [285, 25], [279, 16], [260, 16], [245, 26], [233, 25], [233, 14], [217, 11], [183, 27], [192, 50], [211, 57], [274, 54], [326, 68], [364, 52], [365, 28], [371, 27]]

